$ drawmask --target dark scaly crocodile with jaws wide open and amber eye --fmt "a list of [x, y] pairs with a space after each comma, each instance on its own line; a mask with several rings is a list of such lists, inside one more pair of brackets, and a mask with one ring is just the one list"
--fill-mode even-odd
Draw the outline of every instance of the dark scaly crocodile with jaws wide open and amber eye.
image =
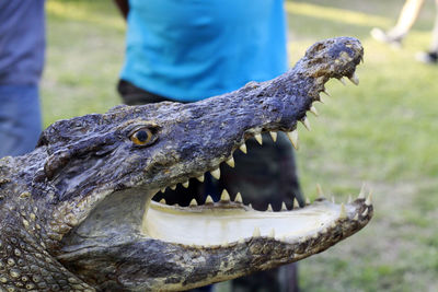
[[185, 207], [152, 198], [220, 176], [261, 133], [287, 132], [298, 148], [298, 122], [309, 127], [324, 84], [358, 83], [362, 55], [359, 40], [330, 38], [270, 81], [54, 122], [33, 152], [0, 160], [0, 290], [183, 291], [301, 260], [359, 231], [373, 212], [362, 192], [276, 212], [226, 190]]

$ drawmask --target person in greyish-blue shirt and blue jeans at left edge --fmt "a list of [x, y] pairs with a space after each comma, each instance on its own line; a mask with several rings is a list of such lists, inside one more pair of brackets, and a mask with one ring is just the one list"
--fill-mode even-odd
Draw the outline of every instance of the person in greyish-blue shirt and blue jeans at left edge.
[[0, 157], [36, 145], [44, 52], [44, 0], [0, 1]]

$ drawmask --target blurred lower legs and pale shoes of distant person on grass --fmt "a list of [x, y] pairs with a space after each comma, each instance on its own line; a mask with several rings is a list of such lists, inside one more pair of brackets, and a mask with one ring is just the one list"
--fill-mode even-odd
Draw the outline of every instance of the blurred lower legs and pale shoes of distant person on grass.
[[[425, 0], [406, 0], [399, 15], [399, 20], [394, 27], [384, 32], [374, 27], [371, 30], [371, 36], [382, 43], [400, 48], [403, 39], [411, 31], [412, 26], [418, 19], [419, 12]], [[438, 10], [438, 0], [435, 0]], [[416, 55], [416, 59], [425, 63], [438, 62], [438, 11], [435, 16], [435, 25], [433, 30], [431, 44], [428, 51], [422, 51]]]

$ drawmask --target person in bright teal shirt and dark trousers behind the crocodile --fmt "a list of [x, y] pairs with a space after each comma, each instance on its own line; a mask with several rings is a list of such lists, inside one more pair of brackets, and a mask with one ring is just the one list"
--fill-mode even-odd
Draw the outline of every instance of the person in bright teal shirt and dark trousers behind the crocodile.
[[[286, 13], [283, 0], [115, 0], [127, 20], [125, 65], [117, 85], [125, 104], [163, 101], [192, 103], [234, 91], [250, 81], [270, 80], [288, 69]], [[219, 180], [206, 175], [157, 195], [169, 205], [188, 206], [206, 195], [216, 200], [226, 188], [245, 203], [266, 210], [304, 201], [296, 174], [291, 143], [246, 141], [247, 155], [234, 152], [235, 170], [221, 166]], [[196, 195], [195, 195], [196, 196]], [[296, 265], [232, 281], [232, 291], [298, 291]], [[197, 291], [209, 291], [201, 288]]]

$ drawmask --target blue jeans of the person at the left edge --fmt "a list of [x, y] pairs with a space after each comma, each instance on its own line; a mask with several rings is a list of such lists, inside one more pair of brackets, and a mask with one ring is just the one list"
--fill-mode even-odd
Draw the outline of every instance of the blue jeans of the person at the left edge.
[[0, 84], [0, 157], [31, 152], [41, 131], [38, 86]]

